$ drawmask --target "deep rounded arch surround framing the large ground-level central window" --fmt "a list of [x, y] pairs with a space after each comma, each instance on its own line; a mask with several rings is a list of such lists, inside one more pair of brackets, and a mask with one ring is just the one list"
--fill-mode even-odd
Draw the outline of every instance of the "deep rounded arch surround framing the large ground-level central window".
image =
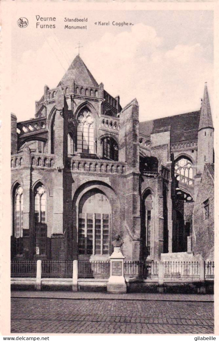
[[[116, 195], [113, 188], [103, 182], [103, 181], [88, 181], [81, 185], [74, 193], [73, 200], [72, 200], [72, 231], [69, 231], [69, 238], [71, 238], [72, 243], [72, 259], [76, 259], [78, 257], [78, 214], [79, 214], [79, 203], [83, 195], [91, 190], [97, 190], [100, 193], [103, 193], [110, 205], [110, 213], [111, 213], [111, 226], [110, 226], [110, 236], [109, 236], [109, 254], [112, 253], [112, 238], [115, 237], [115, 234], [120, 228], [121, 225], [121, 212], [120, 212], [120, 201], [118, 196]], [[71, 235], [72, 233], [72, 235]], [[70, 251], [70, 250], [69, 250]], [[89, 258], [89, 256], [84, 256], [86, 259]], [[95, 257], [95, 256], [93, 256]], [[108, 256], [107, 256], [108, 257]], [[98, 259], [100, 259], [101, 256], [98, 256]], [[106, 258], [106, 256], [102, 257], [103, 259]]]

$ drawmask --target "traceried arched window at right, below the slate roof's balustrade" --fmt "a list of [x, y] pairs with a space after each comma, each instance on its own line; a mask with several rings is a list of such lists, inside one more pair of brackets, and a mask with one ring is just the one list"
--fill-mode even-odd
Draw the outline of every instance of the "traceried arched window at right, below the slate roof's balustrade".
[[189, 186], [193, 184], [193, 164], [189, 159], [180, 158], [176, 160], [174, 173], [178, 181], [186, 183]]

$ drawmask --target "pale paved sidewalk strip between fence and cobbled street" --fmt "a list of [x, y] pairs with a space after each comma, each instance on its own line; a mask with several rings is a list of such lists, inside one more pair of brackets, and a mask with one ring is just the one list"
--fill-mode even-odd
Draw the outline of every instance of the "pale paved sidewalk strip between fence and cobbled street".
[[107, 294], [96, 292], [64, 292], [64, 291], [12, 291], [11, 297], [24, 298], [60, 298], [85, 300], [140, 300], [140, 301], [184, 301], [184, 302], [214, 302], [214, 295], [196, 294]]

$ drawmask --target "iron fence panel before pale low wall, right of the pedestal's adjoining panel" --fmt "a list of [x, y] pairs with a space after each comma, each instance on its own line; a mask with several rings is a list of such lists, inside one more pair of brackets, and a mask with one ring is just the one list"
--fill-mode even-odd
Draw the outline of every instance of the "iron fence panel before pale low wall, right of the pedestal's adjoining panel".
[[199, 262], [163, 262], [164, 278], [194, 279], [200, 278]]

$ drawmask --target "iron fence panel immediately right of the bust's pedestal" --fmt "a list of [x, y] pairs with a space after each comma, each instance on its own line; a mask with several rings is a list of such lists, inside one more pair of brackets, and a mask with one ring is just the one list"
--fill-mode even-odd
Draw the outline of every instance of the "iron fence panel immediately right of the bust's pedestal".
[[152, 279], [158, 277], [158, 263], [153, 261], [124, 261], [126, 278]]

